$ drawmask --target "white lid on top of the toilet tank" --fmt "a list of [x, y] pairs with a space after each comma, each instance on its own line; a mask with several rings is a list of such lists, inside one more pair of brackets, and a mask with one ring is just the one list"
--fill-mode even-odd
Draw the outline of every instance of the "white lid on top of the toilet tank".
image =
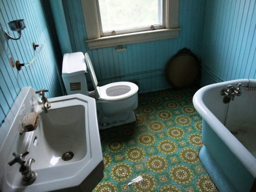
[[66, 53], [62, 62], [62, 77], [86, 73], [86, 62], [82, 52]]

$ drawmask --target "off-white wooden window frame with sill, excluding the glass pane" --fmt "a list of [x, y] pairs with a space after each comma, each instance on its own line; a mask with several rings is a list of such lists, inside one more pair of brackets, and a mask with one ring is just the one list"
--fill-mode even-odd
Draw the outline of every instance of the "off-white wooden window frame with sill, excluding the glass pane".
[[165, 1], [165, 29], [132, 32], [113, 36], [100, 36], [100, 26], [97, 15], [96, 0], [81, 0], [84, 22], [86, 26], [89, 49], [104, 48], [110, 46], [126, 45], [140, 42], [178, 38], [178, 10], [179, 0]]

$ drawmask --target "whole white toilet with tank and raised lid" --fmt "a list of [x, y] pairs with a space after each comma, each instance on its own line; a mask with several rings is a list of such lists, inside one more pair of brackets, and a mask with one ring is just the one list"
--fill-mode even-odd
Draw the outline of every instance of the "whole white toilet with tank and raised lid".
[[[87, 68], [94, 87], [90, 92], [85, 75]], [[138, 106], [138, 86], [131, 82], [114, 82], [98, 86], [88, 53], [64, 54], [62, 79], [68, 95], [80, 93], [95, 98], [100, 129], [136, 120], [134, 110]]]

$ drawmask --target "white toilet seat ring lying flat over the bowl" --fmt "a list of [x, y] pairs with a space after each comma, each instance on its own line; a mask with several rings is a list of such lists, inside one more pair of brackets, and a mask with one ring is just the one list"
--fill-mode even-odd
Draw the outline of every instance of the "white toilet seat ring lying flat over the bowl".
[[138, 92], [138, 86], [131, 82], [114, 82], [104, 86], [97, 86], [98, 100], [115, 101], [133, 96]]

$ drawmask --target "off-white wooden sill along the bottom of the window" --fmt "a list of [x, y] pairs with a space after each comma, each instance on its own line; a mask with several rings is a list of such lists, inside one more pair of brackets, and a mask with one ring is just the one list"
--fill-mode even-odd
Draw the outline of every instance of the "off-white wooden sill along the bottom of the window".
[[86, 40], [89, 49], [112, 47], [140, 42], [178, 38], [181, 28], [159, 29], [152, 31], [135, 32]]

